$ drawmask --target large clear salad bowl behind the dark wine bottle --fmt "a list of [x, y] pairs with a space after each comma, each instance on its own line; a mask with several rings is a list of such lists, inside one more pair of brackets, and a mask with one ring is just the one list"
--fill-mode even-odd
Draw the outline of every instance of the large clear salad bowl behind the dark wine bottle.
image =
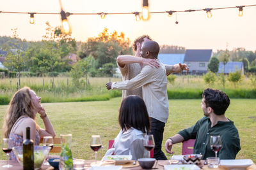
[[[16, 159], [23, 167], [23, 147], [17, 146], [12, 148]], [[49, 146], [34, 146], [34, 169], [40, 169], [45, 158], [49, 154], [51, 147]]]

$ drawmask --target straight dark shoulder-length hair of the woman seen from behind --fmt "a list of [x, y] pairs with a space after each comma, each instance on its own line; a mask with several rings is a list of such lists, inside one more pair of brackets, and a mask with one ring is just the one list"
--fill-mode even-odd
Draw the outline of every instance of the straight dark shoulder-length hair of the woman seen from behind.
[[139, 96], [128, 96], [122, 101], [118, 120], [124, 131], [131, 129], [131, 127], [143, 133], [150, 131], [147, 107]]

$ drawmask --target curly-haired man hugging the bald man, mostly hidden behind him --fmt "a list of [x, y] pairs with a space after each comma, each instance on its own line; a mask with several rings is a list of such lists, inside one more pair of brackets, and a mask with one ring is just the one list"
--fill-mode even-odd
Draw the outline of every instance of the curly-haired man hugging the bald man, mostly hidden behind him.
[[[143, 65], [148, 65], [150, 67], [159, 67], [156, 59], [145, 59], [140, 56], [140, 48], [146, 41], [152, 40], [150, 36], [143, 35], [134, 40], [132, 48], [136, 52], [135, 56], [132, 55], [119, 55], [116, 59], [116, 63], [120, 72], [122, 74], [122, 80], [131, 80], [138, 74], [143, 67]], [[188, 66], [186, 64], [175, 64], [175, 65], [164, 65], [166, 68], [166, 75], [171, 73], [180, 73], [183, 70], [188, 71]], [[129, 95], [137, 95], [142, 97], [142, 87], [138, 89], [123, 90], [122, 99]]]

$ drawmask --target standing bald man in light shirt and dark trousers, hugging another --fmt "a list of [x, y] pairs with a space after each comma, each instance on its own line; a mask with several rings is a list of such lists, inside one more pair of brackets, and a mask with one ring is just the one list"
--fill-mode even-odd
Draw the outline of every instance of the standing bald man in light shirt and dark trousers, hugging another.
[[151, 132], [154, 135], [156, 146], [154, 148], [154, 157], [166, 159], [161, 150], [163, 141], [164, 125], [167, 122], [168, 96], [167, 96], [167, 78], [166, 69], [157, 55], [159, 45], [156, 41], [147, 41], [141, 47], [141, 57], [144, 59], [153, 59], [159, 64], [159, 67], [144, 66], [140, 74], [131, 80], [108, 82], [107, 89], [133, 90], [142, 87], [143, 99], [147, 106], [148, 116], [151, 121]]

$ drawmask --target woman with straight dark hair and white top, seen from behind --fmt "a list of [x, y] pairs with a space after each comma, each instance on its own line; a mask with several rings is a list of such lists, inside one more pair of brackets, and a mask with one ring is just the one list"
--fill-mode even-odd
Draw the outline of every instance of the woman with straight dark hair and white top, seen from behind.
[[133, 160], [149, 157], [143, 146], [144, 134], [150, 131], [150, 120], [147, 107], [138, 96], [128, 96], [119, 110], [118, 121], [121, 131], [115, 138], [113, 148], [106, 155], [132, 155]]

